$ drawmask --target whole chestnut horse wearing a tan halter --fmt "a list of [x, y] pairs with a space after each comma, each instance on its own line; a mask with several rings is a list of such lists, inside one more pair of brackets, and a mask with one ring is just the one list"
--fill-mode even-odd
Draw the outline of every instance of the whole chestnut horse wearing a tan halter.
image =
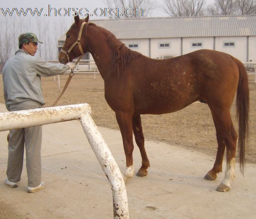
[[[226, 147], [225, 177], [217, 190], [228, 191], [235, 176], [237, 137], [240, 170], [244, 172], [249, 88], [243, 64], [229, 54], [207, 49], [171, 59], [151, 59], [128, 49], [108, 30], [88, 23], [89, 16], [84, 20], [76, 16], [74, 20], [66, 32], [59, 62], [65, 64], [84, 52], [92, 54], [104, 80], [106, 101], [116, 113], [123, 138], [126, 155], [124, 179], [134, 175], [133, 133], [142, 157], [142, 165], [136, 175], [148, 174], [149, 160], [140, 114], [171, 113], [200, 101], [207, 103], [212, 112], [218, 143], [214, 166], [204, 178], [214, 180], [222, 171]], [[77, 40], [79, 35], [81, 40]], [[236, 92], [239, 136], [230, 115]]]

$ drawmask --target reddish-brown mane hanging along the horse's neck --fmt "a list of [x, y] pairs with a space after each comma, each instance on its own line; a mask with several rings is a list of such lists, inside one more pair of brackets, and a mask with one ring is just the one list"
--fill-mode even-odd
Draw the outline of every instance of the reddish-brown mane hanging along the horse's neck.
[[[95, 25], [90, 23], [91, 25]], [[115, 35], [108, 30], [106, 30], [103, 27], [96, 26], [99, 30], [102, 30], [104, 34], [106, 35], [106, 39], [108, 42], [108, 45], [113, 48], [114, 51], [114, 74], [119, 77], [120, 71], [122, 74], [126, 73], [126, 64], [132, 60], [138, 58], [141, 53], [133, 51], [126, 47], [124, 43], [122, 43], [119, 39], [115, 37]]]

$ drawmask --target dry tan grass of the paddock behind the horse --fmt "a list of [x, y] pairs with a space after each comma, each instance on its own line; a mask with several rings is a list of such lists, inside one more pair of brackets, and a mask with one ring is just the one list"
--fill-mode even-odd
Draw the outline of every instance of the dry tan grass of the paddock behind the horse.
[[[60, 76], [62, 88], [68, 75]], [[250, 81], [250, 132], [249, 150], [246, 159], [256, 162], [256, 84], [253, 76]], [[53, 77], [42, 78], [42, 89], [46, 107], [51, 106], [59, 95], [57, 81]], [[0, 81], [0, 102], [3, 103], [2, 80]], [[104, 82], [99, 74], [76, 74], [58, 105], [89, 103], [92, 116], [98, 126], [118, 129], [115, 114], [109, 108], [104, 98]], [[231, 115], [237, 129], [235, 108], [232, 106]], [[142, 115], [143, 132], [146, 139], [161, 140], [170, 144], [178, 144], [190, 150], [199, 150], [214, 155], [217, 151], [217, 140], [212, 116], [204, 103], [193, 103], [187, 108], [170, 114], [160, 116]]]

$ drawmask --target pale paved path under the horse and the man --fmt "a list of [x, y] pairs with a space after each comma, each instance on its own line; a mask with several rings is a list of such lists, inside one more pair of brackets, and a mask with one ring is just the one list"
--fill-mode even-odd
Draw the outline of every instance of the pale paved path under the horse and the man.
[[[6, 111], [0, 104], [0, 112]], [[121, 171], [125, 155], [118, 130], [99, 127]], [[26, 192], [24, 163], [17, 188], [2, 182], [7, 166], [7, 131], [0, 132], [1, 219], [111, 219], [112, 191], [106, 175], [86, 140], [79, 121], [43, 126], [42, 179], [46, 187]], [[204, 180], [214, 156], [180, 145], [146, 140], [150, 159], [148, 176], [126, 182], [130, 219], [255, 219], [256, 164], [247, 164], [244, 177], [236, 163], [236, 179], [229, 192]], [[139, 149], [133, 152], [135, 171], [141, 164]], [[225, 162], [223, 165], [225, 168]]]

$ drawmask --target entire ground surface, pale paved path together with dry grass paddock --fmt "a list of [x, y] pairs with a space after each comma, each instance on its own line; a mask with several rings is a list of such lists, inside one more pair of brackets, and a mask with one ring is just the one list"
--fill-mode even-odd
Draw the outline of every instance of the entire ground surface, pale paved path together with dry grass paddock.
[[[95, 76], [96, 79], [94, 74], [76, 74], [58, 105], [89, 103], [96, 125], [101, 127], [118, 166], [124, 171], [125, 156], [118, 124], [104, 99], [103, 80], [99, 74]], [[62, 88], [67, 77], [67, 74], [60, 77]], [[45, 107], [51, 106], [59, 95], [57, 81], [53, 77], [43, 78], [42, 89]], [[252, 77], [250, 101], [245, 177], [236, 163], [236, 180], [227, 193], [215, 191], [224, 173], [213, 182], [203, 179], [213, 165], [217, 150], [214, 125], [206, 104], [194, 103], [176, 113], [160, 116], [143, 115], [145, 148], [151, 167], [147, 177], [135, 177], [126, 183], [130, 218], [256, 218], [256, 84]], [[3, 102], [0, 80], [0, 103]], [[232, 117], [237, 129], [234, 107]], [[79, 122], [44, 125], [43, 130], [42, 177], [47, 187], [28, 194], [25, 170], [19, 187], [10, 189], [0, 183], [0, 218], [113, 218], [111, 189]], [[6, 135], [7, 132], [0, 133], [1, 181], [6, 177]], [[133, 155], [137, 171], [141, 162], [137, 147]]]

